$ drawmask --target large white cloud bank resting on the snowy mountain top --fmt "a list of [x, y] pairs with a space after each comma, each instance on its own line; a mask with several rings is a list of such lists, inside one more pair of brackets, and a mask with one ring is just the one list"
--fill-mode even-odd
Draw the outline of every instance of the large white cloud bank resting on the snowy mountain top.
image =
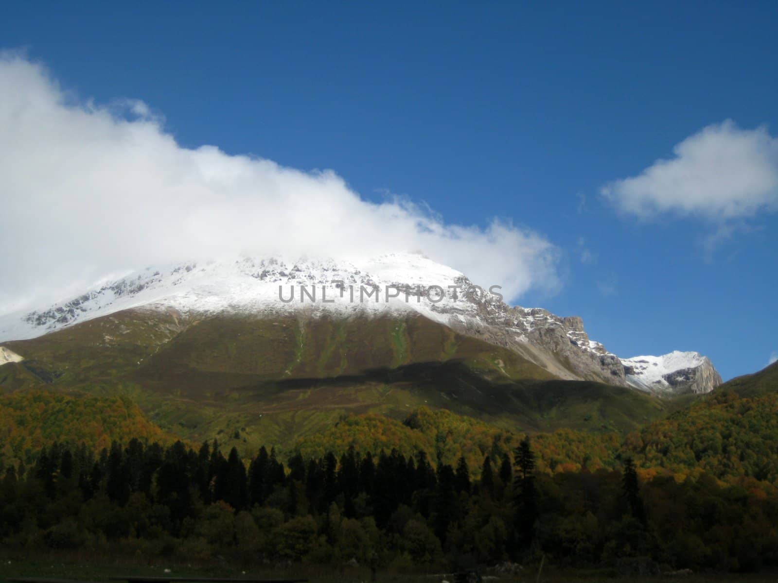
[[420, 250], [506, 298], [559, 285], [555, 247], [510, 221], [450, 225], [408, 201], [365, 201], [330, 170], [183, 148], [151, 112], [79, 101], [41, 65], [0, 54], [0, 313], [117, 271], [238, 253]]

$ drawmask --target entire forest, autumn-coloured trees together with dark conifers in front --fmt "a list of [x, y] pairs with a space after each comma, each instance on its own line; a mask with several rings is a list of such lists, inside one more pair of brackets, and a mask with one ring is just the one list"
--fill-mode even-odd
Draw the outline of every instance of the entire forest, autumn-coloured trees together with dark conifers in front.
[[395, 572], [771, 570], [776, 371], [626, 434], [528, 435], [419, 407], [254, 450], [238, 430], [179, 441], [125, 396], [6, 393], [0, 549]]

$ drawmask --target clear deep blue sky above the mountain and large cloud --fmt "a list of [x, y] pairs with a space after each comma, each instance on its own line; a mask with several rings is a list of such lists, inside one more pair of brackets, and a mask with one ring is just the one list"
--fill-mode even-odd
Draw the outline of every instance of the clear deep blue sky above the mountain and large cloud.
[[774, 2], [17, 3], [0, 47], [82, 99], [142, 99], [184, 147], [333, 169], [449, 224], [510, 219], [559, 257], [559, 285], [521, 305], [582, 316], [623, 357], [699, 351], [727, 379], [778, 351], [769, 176], [695, 166], [725, 183], [713, 201], [672, 176], [602, 189], [712, 125], [775, 169], [776, 27]]

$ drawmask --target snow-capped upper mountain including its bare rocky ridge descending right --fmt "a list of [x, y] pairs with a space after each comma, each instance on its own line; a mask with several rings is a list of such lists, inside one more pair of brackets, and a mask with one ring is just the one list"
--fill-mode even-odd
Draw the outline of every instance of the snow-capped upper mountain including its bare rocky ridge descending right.
[[511, 307], [499, 288], [416, 254], [373, 260], [243, 257], [149, 267], [47, 309], [0, 318], [0, 342], [39, 337], [124, 309], [187, 314], [247, 312], [272, 317], [418, 313], [469, 336], [517, 352], [560, 379], [587, 379], [654, 393], [705, 393], [721, 379], [697, 353], [621, 359], [590, 340], [578, 317]]

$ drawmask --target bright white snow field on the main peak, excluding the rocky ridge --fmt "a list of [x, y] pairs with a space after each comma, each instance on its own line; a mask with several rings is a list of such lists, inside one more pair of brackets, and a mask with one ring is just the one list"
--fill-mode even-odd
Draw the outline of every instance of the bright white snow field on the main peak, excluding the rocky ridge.
[[[399, 309], [442, 322], [444, 312], [457, 312], [457, 302], [468, 307], [457, 293], [463, 288], [449, 286], [469, 285], [460, 272], [410, 254], [357, 262], [244, 257], [149, 267], [51, 308], [2, 316], [0, 341], [33, 338], [119, 310], [155, 305], [203, 313]], [[387, 292], [387, 286], [394, 288]]]

